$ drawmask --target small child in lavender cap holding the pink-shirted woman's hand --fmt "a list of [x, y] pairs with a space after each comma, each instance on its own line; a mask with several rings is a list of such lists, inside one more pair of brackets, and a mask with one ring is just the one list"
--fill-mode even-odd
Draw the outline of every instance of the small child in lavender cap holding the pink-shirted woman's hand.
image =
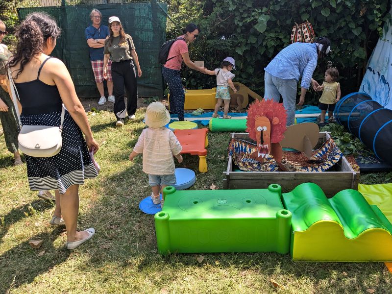
[[231, 119], [231, 116], [227, 115], [230, 105], [229, 87], [233, 90], [234, 93], [237, 92], [237, 89], [234, 87], [232, 82], [232, 79], [235, 77], [235, 74], [231, 73], [233, 69], [236, 69], [234, 58], [226, 57], [223, 59], [220, 69], [215, 69], [214, 71], [205, 71], [207, 74], [215, 74], [217, 76], [217, 94], [215, 95], [215, 98], [217, 98], [217, 104], [215, 105], [214, 114], [212, 115], [213, 118], [218, 117], [218, 110], [223, 102], [223, 119]]

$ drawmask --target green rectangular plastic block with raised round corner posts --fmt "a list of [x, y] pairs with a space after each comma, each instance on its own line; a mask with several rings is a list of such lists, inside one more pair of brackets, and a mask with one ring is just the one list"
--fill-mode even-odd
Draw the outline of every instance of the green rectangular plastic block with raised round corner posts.
[[281, 187], [268, 189], [163, 190], [165, 204], [155, 214], [158, 251], [289, 252], [291, 212], [283, 208]]

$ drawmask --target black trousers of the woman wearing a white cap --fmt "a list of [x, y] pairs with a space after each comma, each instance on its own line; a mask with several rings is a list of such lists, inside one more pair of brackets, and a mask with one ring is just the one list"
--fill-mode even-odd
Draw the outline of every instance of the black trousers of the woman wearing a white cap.
[[136, 81], [136, 70], [132, 60], [112, 62], [112, 80], [114, 92], [114, 115], [123, 119], [125, 113], [124, 86], [127, 96], [128, 116], [134, 115], [138, 104], [138, 86]]

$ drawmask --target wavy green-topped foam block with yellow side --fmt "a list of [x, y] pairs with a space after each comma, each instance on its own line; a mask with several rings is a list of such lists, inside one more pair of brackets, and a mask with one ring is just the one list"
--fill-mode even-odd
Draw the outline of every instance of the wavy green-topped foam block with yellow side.
[[392, 261], [392, 225], [358, 191], [327, 199], [318, 185], [304, 183], [282, 197], [293, 213], [293, 260]]

